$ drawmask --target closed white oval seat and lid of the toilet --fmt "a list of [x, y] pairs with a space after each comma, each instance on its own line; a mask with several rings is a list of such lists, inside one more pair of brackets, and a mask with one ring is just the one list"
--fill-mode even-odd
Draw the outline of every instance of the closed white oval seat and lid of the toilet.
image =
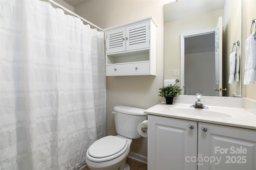
[[116, 136], [106, 136], [94, 142], [86, 157], [93, 162], [104, 162], [122, 155], [128, 148], [128, 141]]

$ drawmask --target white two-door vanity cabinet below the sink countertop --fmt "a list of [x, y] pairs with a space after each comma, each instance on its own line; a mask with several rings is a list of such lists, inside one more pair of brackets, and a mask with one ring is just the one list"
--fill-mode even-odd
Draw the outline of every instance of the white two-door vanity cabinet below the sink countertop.
[[256, 130], [148, 115], [148, 170], [156, 169], [255, 170]]

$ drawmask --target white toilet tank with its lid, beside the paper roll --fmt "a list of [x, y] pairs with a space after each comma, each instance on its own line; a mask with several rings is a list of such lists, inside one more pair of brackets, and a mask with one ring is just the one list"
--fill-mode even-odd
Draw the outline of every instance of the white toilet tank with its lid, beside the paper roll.
[[141, 135], [138, 133], [138, 125], [146, 120], [145, 109], [129, 106], [115, 106], [114, 120], [116, 126], [116, 133], [118, 135], [138, 139]]

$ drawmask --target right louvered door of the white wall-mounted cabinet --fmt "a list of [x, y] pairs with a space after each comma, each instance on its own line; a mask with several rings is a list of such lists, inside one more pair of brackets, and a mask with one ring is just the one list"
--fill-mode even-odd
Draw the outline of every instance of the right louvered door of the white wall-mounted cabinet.
[[126, 27], [126, 51], [149, 48], [150, 22]]

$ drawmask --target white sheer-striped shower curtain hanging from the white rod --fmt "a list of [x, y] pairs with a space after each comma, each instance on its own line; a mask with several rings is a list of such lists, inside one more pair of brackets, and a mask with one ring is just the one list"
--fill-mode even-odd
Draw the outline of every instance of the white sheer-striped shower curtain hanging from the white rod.
[[68, 170], [105, 136], [104, 33], [40, 0], [0, 0], [0, 170]]

